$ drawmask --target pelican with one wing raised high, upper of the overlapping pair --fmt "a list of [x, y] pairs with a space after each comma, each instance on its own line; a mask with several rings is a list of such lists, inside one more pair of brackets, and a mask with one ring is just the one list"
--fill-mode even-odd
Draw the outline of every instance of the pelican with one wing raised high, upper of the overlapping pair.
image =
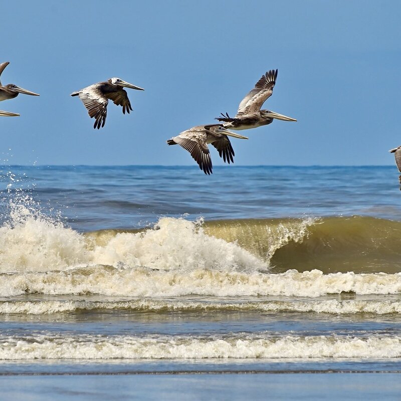
[[274, 111], [260, 109], [265, 100], [272, 95], [276, 79], [277, 70], [267, 71], [241, 101], [234, 118], [231, 118], [228, 113], [221, 113], [221, 116], [216, 117], [216, 120], [223, 121], [226, 128], [236, 130], [261, 127], [272, 123], [274, 118], [284, 121], [297, 121], [295, 118]]

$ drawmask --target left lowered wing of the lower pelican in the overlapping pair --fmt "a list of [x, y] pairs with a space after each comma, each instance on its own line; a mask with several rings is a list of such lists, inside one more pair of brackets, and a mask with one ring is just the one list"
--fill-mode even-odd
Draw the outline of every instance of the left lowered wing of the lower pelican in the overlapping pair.
[[175, 136], [173, 140], [191, 154], [205, 174], [212, 173], [212, 158], [206, 142], [206, 132], [187, 130]]

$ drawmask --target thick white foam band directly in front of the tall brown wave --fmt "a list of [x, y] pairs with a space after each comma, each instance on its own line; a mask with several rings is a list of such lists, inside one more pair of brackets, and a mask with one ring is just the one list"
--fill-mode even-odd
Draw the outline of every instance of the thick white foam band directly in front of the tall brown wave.
[[25, 292], [48, 295], [100, 294], [129, 297], [292, 296], [315, 298], [327, 294], [398, 294], [401, 273], [324, 275], [319, 270], [281, 274], [245, 273], [212, 269], [154, 270], [145, 267], [86, 266], [66, 271], [2, 275], [0, 296]]

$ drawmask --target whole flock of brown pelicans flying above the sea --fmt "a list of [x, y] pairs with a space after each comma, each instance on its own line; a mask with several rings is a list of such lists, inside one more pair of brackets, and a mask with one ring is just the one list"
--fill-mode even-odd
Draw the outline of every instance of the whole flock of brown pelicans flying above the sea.
[[[0, 64], [0, 76], [9, 64], [9, 62]], [[273, 93], [276, 79], [277, 70], [267, 71], [255, 84], [254, 88], [242, 99], [235, 117], [231, 118], [228, 113], [222, 113], [219, 117], [216, 117], [216, 120], [220, 122], [219, 124], [197, 125], [196, 127], [189, 128], [177, 136], [168, 139], [167, 144], [182, 146], [190, 153], [205, 174], [211, 174], [213, 167], [208, 144], [212, 144], [218, 150], [220, 157], [225, 162], [234, 162], [234, 149], [228, 137], [231, 136], [238, 139], [248, 138], [230, 131], [229, 128], [233, 130], [257, 128], [272, 123], [274, 119], [297, 121], [295, 118], [287, 117], [274, 111], [261, 110], [263, 103]], [[140, 91], [144, 90], [120, 78], [110, 78], [107, 81], [98, 82], [97, 84], [73, 92], [71, 96], [79, 96], [88, 110], [89, 116], [95, 119], [93, 128], [99, 129], [100, 127], [104, 127], [106, 122], [109, 99], [114, 104], [122, 107], [123, 114], [125, 112], [129, 114], [129, 111], [132, 110], [127, 92], [123, 89], [124, 87]], [[31, 92], [15, 84], [2, 85], [0, 81], [0, 101], [13, 99], [20, 93], [39, 96], [38, 93]], [[0, 110], [0, 116], [15, 117], [19, 116], [19, 114]], [[391, 149], [390, 152], [394, 153], [395, 163], [398, 171], [401, 172], [401, 146]], [[399, 176], [399, 182], [401, 184], [401, 175]]]

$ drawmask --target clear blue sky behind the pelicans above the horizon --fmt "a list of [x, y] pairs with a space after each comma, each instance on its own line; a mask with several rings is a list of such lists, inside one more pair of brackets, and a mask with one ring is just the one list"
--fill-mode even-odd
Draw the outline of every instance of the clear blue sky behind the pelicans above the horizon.
[[[40, 93], [0, 102], [0, 158], [11, 164], [193, 164], [166, 139], [220, 112], [278, 69], [263, 108], [294, 117], [241, 131], [236, 165], [393, 164], [401, 145], [401, 2], [3, 2], [2, 83]], [[111, 77], [133, 112], [111, 101], [93, 129], [70, 93]], [[11, 149], [11, 150], [10, 150]], [[211, 149], [215, 165], [223, 162]]]

